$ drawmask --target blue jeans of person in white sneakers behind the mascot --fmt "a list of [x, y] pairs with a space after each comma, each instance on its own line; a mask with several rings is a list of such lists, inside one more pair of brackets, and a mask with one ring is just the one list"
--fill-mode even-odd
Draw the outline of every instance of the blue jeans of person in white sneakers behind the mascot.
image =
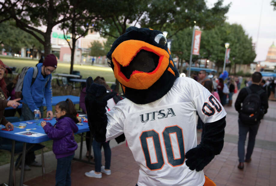
[[95, 172], [101, 172], [101, 163], [102, 163], [102, 153], [101, 146], [104, 147], [104, 158], [105, 158], [105, 169], [110, 169], [111, 162], [111, 149], [109, 146], [109, 141], [104, 143], [99, 143], [96, 140], [93, 140], [92, 143], [94, 158], [95, 158]]

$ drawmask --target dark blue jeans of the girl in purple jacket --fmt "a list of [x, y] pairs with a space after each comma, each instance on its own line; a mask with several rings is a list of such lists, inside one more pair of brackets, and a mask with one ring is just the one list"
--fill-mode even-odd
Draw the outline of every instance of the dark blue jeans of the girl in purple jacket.
[[55, 172], [55, 186], [71, 186], [71, 162], [74, 155], [58, 158]]

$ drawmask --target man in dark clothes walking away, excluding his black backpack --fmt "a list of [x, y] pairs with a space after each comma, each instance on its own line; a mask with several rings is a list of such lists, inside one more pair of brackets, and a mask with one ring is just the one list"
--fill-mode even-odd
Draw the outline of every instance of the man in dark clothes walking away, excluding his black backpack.
[[[252, 84], [249, 86], [249, 89], [252, 93], [256, 93], [259, 90], [262, 90], [262, 87], [259, 86], [260, 81], [262, 80], [262, 74], [260, 72], [254, 72], [252, 74]], [[235, 109], [238, 111], [238, 113], [241, 112], [241, 104], [248, 95], [246, 88], [242, 88], [241, 91], [238, 93], [238, 97], [235, 102]], [[260, 95], [261, 100], [261, 109], [263, 110], [263, 113], [265, 114], [268, 109], [268, 101], [266, 98], [266, 93], [263, 91], [263, 93]], [[263, 116], [260, 116], [262, 118]], [[245, 124], [241, 122], [240, 119], [238, 119], [238, 158], [239, 158], [239, 164], [238, 168], [243, 169], [244, 168], [244, 161], [249, 163], [251, 161], [251, 155], [254, 149], [255, 145], [255, 137], [258, 132], [260, 124], [260, 119], [256, 121], [256, 123], [251, 124]], [[247, 145], [247, 152], [244, 160], [244, 144], [247, 132], [249, 131], [249, 138], [248, 138], [248, 145]]]

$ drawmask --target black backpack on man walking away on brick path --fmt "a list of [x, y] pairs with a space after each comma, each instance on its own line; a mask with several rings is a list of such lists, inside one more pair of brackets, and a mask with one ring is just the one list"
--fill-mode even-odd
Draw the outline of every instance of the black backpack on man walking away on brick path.
[[239, 119], [244, 124], [254, 125], [257, 124], [264, 115], [264, 111], [261, 107], [260, 95], [265, 91], [261, 89], [256, 93], [252, 93], [249, 87], [246, 87], [245, 89], [248, 95], [242, 102]]

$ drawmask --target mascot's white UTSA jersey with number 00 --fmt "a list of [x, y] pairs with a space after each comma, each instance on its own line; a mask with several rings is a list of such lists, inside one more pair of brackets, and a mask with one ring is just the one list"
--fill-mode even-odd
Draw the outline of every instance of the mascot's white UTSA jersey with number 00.
[[123, 99], [107, 112], [107, 141], [125, 133], [140, 165], [139, 186], [204, 184], [203, 171], [185, 164], [185, 153], [197, 145], [196, 111], [204, 123], [226, 115], [205, 87], [181, 77], [155, 102], [139, 105]]

